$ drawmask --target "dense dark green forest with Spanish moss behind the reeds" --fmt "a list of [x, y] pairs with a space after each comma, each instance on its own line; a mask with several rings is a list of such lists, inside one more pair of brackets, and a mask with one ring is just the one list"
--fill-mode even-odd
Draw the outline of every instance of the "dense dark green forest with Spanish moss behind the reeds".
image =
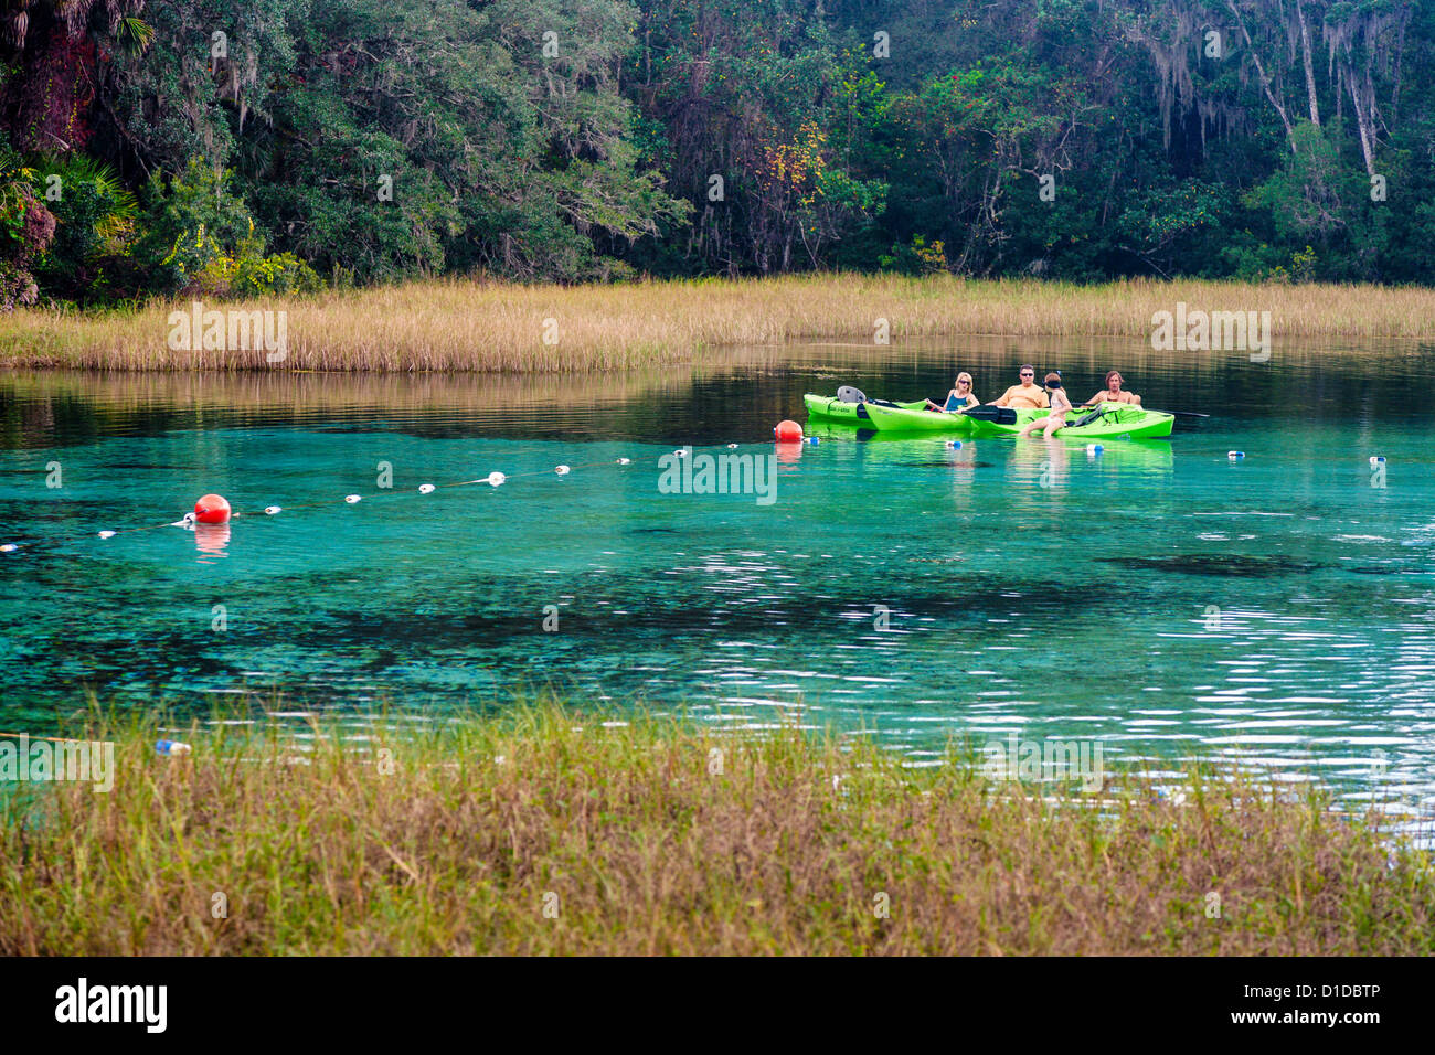
[[1431, 283], [1432, 47], [1403, 0], [0, 0], [0, 304]]

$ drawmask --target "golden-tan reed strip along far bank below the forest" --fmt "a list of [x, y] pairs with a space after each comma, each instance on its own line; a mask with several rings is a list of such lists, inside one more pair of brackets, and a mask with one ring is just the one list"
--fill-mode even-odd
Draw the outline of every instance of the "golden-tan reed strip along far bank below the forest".
[[[951, 276], [821, 274], [751, 280], [518, 286], [439, 278], [291, 300], [208, 303], [283, 310], [287, 359], [264, 349], [172, 350], [168, 316], [26, 309], [0, 317], [0, 366], [102, 370], [626, 370], [713, 350], [818, 337], [874, 346], [937, 334], [1147, 337], [1155, 311], [1270, 311], [1277, 339], [1428, 342], [1435, 290], [1131, 280], [1073, 286]], [[547, 339], [547, 340], [545, 340]]]

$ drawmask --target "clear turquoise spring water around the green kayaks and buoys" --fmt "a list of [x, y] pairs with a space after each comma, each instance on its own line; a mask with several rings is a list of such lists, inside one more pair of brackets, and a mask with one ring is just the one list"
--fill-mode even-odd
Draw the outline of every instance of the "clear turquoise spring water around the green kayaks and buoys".
[[[961, 362], [996, 395], [1013, 355]], [[465, 379], [373, 399], [336, 380], [323, 403], [0, 378], [0, 543], [26, 544], [0, 554], [0, 729], [40, 732], [86, 692], [442, 713], [554, 686], [861, 723], [914, 762], [1017, 732], [1435, 798], [1435, 452], [1406, 398], [1424, 359], [1243, 360], [1141, 366], [1148, 405], [1213, 413], [1170, 442], [822, 431], [778, 459], [772, 504], [664, 494], [659, 458], [766, 458], [804, 390], [940, 396], [953, 356], [832, 349], [499, 403]], [[416, 491], [492, 471], [507, 482]], [[207, 491], [243, 515], [162, 527]]]

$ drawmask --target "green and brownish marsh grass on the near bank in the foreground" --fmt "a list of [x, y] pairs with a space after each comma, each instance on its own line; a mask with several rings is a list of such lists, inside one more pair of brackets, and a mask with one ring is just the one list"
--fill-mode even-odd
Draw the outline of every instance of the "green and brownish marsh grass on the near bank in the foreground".
[[1228, 774], [1192, 769], [1185, 805], [1137, 777], [1096, 805], [990, 784], [960, 751], [914, 769], [861, 736], [606, 726], [555, 705], [423, 731], [376, 719], [370, 739], [205, 725], [191, 758], [155, 755], [158, 728], [90, 719], [85, 735], [118, 742], [112, 794], [0, 794], [0, 953], [1435, 944], [1424, 853], [1391, 851], [1319, 792], [1273, 801]]

